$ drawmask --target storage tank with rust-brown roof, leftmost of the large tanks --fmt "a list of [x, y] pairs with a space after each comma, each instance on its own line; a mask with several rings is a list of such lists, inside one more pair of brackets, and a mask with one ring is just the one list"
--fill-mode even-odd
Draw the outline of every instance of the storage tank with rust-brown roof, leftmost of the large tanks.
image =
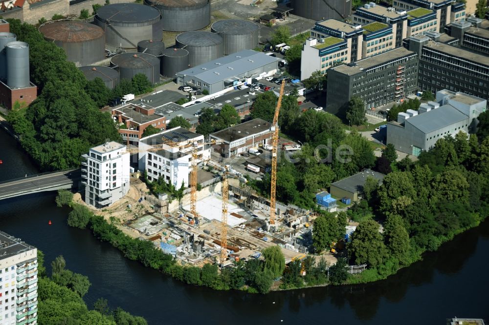
[[61, 20], [41, 25], [46, 41], [62, 47], [67, 60], [77, 66], [105, 59], [105, 33], [102, 28], [78, 20]]

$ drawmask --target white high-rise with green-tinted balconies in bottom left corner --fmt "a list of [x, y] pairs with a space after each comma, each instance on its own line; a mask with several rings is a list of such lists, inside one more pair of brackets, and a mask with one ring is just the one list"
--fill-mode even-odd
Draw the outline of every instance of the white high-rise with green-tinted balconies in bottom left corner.
[[0, 231], [0, 325], [37, 324], [37, 249]]

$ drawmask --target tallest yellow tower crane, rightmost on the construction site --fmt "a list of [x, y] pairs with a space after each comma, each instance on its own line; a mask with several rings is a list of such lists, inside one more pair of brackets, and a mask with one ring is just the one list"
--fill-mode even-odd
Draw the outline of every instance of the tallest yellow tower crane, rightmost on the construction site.
[[275, 114], [273, 115], [273, 123], [271, 126], [272, 134], [272, 172], [270, 182], [270, 220], [268, 223], [268, 231], [276, 231], [275, 225], [275, 188], [277, 184], [277, 146], [278, 146], [278, 115], [282, 106], [282, 97], [284, 96], [285, 80], [282, 81], [280, 87], [280, 95], [278, 97]]

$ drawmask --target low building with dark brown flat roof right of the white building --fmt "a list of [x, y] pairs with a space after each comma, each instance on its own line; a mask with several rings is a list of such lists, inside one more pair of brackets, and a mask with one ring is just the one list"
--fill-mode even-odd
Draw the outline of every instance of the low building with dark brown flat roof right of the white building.
[[214, 151], [224, 155], [224, 157], [233, 157], [242, 152], [247, 152], [250, 148], [271, 144], [272, 132], [270, 127], [270, 122], [254, 119], [212, 133], [211, 139], [222, 141], [222, 144], [214, 145]]

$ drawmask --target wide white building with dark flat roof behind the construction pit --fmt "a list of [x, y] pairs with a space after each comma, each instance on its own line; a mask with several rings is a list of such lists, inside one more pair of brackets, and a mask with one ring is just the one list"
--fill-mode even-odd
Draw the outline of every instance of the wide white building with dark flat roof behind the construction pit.
[[[173, 142], [172, 146], [168, 144], [169, 142]], [[166, 183], [173, 184], [177, 188], [180, 188], [182, 183], [188, 187], [192, 146], [197, 145], [196, 163], [210, 159], [210, 146], [204, 145], [203, 142], [203, 135], [179, 126], [142, 138], [139, 141], [138, 168], [148, 173], [150, 181], [163, 177]], [[153, 145], [158, 145], [161, 149], [149, 151], [148, 149]]]

